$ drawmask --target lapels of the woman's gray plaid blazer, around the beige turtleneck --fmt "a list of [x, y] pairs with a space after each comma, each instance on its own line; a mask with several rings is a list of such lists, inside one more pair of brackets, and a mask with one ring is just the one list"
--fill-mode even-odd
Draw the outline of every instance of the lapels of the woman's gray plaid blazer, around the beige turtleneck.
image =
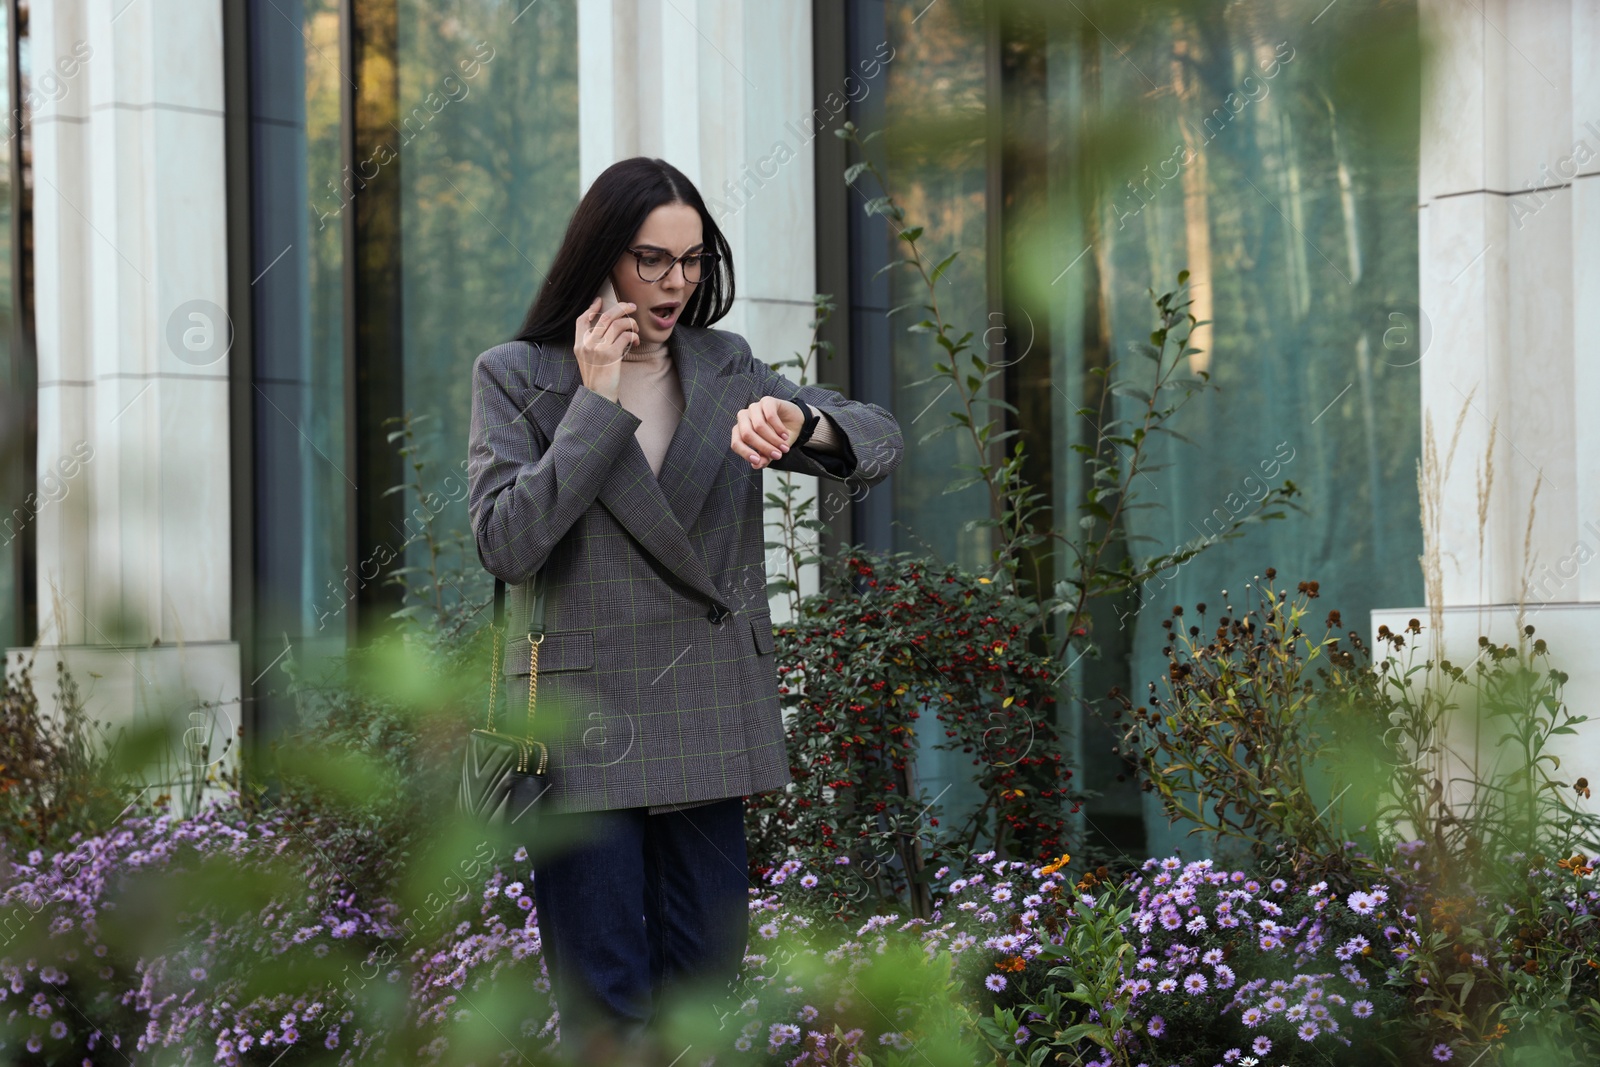
[[[672, 338], [677, 334], [675, 330]], [[669, 338], [669, 349], [672, 338]], [[554, 440], [555, 429], [571, 403], [571, 394], [582, 379], [571, 346], [547, 344], [542, 349], [542, 358], [534, 373], [536, 394], [533, 403], [528, 405], [528, 414], [544, 430], [546, 440]], [[706, 502], [709, 475], [714, 474], [712, 462], [717, 459], [714, 454], [707, 454], [704, 435], [690, 427], [694, 424], [696, 414], [704, 416], [709, 406], [712, 408], [710, 416], [715, 416], [715, 406], [709, 405], [704, 395], [712, 392], [707, 387], [707, 379], [718, 384], [722, 379], [717, 379], [715, 374], [704, 374], [698, 368], [699, 360], [693, 355], [680, 357], [682, 350], [683, 346], [678, 346], [674, 352], [674, 362], [680, 368], [686, 410], [678, 421], [672, 443], [667, 446], [661, 480], [651, 472], [650, 461], [645, 459], [645, 451], [638, 446], [637, 438], [629, 438], [627, 448], [611, 467], [605, 485], [600, 486], [597, 499], [662, 568], [712, 603], [722, 603], [722, 593], [712, 584], [706, 563], [685, 533], [693, 528], [694, 517], [699, 515], [699, 509]], [[707, 470], [707, 467], [712, 469]]]

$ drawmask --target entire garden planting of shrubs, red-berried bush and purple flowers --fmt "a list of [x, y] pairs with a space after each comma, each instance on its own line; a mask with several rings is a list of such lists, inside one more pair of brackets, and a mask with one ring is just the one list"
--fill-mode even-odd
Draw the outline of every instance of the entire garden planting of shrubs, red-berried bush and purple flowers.
[[[1421, 624], [1374, 667], [1315, 598], [1267, 569], [1168, 622], [1146, 699], [1114, 694], [1147, 789], [1214, 856], [1118, 865], [1066, 854], [1082, 798], [1013, 643], [1026, 605], [840, 560], [778, 635], [795, 782], [749, 805], [744, 974], [661, 1005], [613, 1062], [1595, 1062], [1595, 825], [1549, 752], [1582, 723], [1565, 675], [1531, 632], [1419, 659]], [[181, 789], [138, 789], [158, 741], [91, 744], [66, 680], [45, 715], [8, 678], [0, 1061], [558, 1053], [528, 853], [552, 843], [448, 814], [486, 629], [406, 625], [342, 683], [291, 665], [301, 725], [245, 787], [197, 763], [210, 797], [181, 816]], [[912, 777], [934, 723], [976, 763], [965, 817]]]

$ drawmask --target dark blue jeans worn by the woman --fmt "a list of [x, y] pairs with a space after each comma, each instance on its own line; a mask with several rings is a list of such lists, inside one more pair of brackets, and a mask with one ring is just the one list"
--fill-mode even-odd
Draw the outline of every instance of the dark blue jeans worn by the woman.
[[656, 816], [549, 814], [541, 827], [565, 841], [533, 857], [563, 1051], [637, 1038], [662, 993], [738, 976], [750, 913], [742, 797]]

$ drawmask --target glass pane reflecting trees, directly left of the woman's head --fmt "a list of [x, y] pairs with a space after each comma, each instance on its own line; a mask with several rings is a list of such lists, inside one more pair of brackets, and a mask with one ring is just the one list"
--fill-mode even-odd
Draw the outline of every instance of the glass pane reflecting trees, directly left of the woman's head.
[[[581, 192], [578, 8], [400, 0], [398, 42], [405, 408], [426, 416], [435, 533], [469, 534], [472, 362], [522, 325]], [[408, 496], [408, 534], [418, 512]], [[482, 582], [461, 595], [486, 598], [470, 537], [458, 544], [443, 565]], [[426, 566], [426, 547], [408, 561]]]

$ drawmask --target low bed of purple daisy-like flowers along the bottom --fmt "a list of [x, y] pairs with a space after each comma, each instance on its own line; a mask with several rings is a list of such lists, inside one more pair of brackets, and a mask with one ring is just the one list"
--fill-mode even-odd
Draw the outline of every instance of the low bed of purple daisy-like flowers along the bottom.
[[[1448, 953], [1434, 942], [1470, 936], [1442, 923], [1448, 901], [1411, 880], [1422, 849], [1402, 854], [1382, 881], [1334, 893], [1178, 857], [1120, 883], [1074, 881], [1067, 857], [1035, 865], [990, 851], [933, 872], [928, 918], [848, 925], [832, 918], [819, 872], [790, 859], [752, 889], [738, 987], [680, 1014], [699, 1027], [696, 1062], [920, 1062], [931, 1048], [933, 1062], [1066, 1054], [1101, 1067], [1376, 1062], [1397, 1048], [1477, 1056], [1443, 1022], [1419, 1022], [1430, 984], [1523, 974], [1528, 958], [1555, 966], [1562, 945], [1480, 939], [1440, 971]], [[448, 893], [411, 913], [362, 899], [341, 875], [363, 856], [346, 827], [208, 808], [130, 817], [69, 851], [8, 861], [0, 1054], [461, 1064], [549, 1053], [560, 1016], [526, 853], [480, 848]], [[1550, 897], [1552, 939], [1570, 917], [1570, 955], [1600, 896], [1592, 870], [1563, 861], [1531, 878]], [[1106, 993], [1080, 997], [1096, 976]], [[509, 1016], [496, 1000], [506, 990]]]

